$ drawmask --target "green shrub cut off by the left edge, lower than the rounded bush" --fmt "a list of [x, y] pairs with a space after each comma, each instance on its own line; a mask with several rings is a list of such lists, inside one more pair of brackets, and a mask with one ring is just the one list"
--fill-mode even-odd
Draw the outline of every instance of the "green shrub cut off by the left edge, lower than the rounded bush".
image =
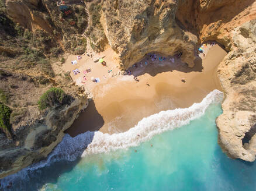
[[12, 110], [2, 104], [0, 102], [0, 129], [5, 133], [5, 135], [11, 139], [11, 124], [10, 124], [10, 116], [11, 116]]

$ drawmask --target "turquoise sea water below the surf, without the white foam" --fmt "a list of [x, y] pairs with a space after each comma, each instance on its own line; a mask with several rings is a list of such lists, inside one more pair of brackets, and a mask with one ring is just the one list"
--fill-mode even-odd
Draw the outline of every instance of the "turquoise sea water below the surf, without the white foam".
[[140, 146], [21, 171], [4, 180], [12, 181], [6, 190], [256, 190], [255, 163], [231, 160], [217, 144], [221, 113], [212, 104], [200, 118]]

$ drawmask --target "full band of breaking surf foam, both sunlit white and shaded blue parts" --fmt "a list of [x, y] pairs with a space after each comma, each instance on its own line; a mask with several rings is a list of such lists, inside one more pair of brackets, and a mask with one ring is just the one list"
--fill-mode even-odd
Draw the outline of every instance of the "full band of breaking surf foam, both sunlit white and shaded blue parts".
[[200, 103], [195, 103], [189, 108], [161, 111], [158, 114], [148, 116], [143, 118], [134, 128], [123, 133], [109, 135], [102, 132], [85, 132], [73, 138], [70, 135], [65, 135], [46, 160], [30, 165], [30, 167], [2, 179], [0, 189], [6, 189], [9, 182], [14, 182], [19, 187], [25, 186], [25, 182], [33, 176], [38, 176], [33, 173], [34, 171], [57, 161], [75, 161], [81, 155], [85, 157], [88, 154], [139, 146], [141, 142], [151, 139], [154, 135], [187, 125], [193, 119], [202, 116], [210, 104], [220, 103], [222, 99], [223, 93], [219, 90], [213, 90]]

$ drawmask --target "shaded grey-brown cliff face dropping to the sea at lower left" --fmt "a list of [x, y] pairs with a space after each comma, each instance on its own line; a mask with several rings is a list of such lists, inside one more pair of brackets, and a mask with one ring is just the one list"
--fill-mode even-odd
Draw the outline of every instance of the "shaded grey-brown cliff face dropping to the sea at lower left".
[[20, 128], [22, 139], [19, 142], [13, 143], [11, 140], [1, 137], [0, 178], [46, 158], [61, 142], [64, 130], [70, 128], [79, 112], [87, 106], [87, 97], [80, 95], [70, 105], [51, 110], [33, 126]]

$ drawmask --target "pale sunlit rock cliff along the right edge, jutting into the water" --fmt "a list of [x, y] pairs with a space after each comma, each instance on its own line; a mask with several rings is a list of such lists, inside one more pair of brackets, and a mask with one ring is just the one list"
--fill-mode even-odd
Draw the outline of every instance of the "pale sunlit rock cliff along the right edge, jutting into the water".
[[217, 118], [219, 144], [231, 158], [254, 161], [256, 136], [243, 146], [245, 133], [256, 124], [256, 19], [231, 34], [231, 51], [220, 63], [218, 75], [226, 98]]

